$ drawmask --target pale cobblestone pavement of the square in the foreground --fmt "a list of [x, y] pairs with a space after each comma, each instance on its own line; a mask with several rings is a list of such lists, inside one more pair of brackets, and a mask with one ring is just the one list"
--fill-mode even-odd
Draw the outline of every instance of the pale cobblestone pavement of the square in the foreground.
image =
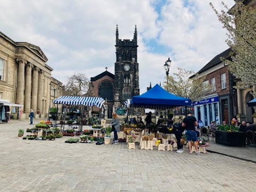
[[[35, 121], [37, 123], [39, 120]], [[255, 191], [256, 164], [206, 153], [18, 139], [0, 124], [0, 191]]]

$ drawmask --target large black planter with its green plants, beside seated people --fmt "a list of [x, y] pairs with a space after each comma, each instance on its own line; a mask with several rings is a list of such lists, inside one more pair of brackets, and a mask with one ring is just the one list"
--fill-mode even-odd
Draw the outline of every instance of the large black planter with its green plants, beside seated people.
[[219, 125], [215, 131], [215, 141], [228, 146], [245, 146], [246, 136], [235, 125]]

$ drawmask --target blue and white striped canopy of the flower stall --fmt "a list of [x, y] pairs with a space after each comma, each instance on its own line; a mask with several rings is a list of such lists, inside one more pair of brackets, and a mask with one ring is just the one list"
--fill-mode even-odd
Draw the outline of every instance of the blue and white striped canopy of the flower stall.
[[77, 96], [61, 96], [53, 100], [54, 104], [66, 105], [84, 105], [84, 106], [97, 106], [102, 107], [104, 99], [98, 97], [77, 97]]

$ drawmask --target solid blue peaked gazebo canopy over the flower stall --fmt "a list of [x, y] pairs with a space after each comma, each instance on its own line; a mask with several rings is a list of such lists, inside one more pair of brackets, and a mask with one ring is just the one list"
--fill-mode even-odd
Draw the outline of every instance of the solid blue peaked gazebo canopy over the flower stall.
[[178, 107], [190, 106], [191, 100], [182, 98], [165, 91], [161, 86], [156, 84], [146, 93], [139, 96], [133, 96], [131, 105], [133, 107], [155, 108], [155, 107]]

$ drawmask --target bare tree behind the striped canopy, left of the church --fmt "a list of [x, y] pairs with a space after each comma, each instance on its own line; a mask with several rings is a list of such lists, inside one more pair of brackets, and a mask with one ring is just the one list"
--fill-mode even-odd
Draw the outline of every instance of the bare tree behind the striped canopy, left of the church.
[[65, 89], [63, 91], [63, 95], [74, 95], [74, 96], [82, 96], [87, 95], [90, 96], [89, 93], [89, 79], [81, 73], [74, 74], [71, 77], [67, 76], [68, 83], [65, 85]]

